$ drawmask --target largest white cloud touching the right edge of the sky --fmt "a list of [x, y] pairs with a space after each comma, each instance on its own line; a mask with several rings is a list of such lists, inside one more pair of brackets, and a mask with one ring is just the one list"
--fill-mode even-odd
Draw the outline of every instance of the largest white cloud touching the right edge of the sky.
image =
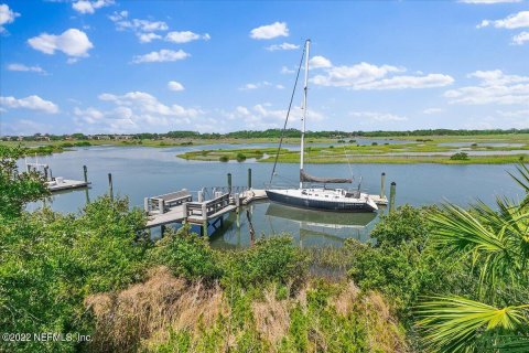
[[477, 71], [468, 75], [479, 79], [476, 86], [444, 93], [450, 104], [529, 104], [529, 76], [506, 75], [500, 69]]

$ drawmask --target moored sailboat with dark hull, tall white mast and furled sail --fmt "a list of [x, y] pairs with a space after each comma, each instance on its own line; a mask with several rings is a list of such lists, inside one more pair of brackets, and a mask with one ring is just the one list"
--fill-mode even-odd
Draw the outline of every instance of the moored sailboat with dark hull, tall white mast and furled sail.
[[[267, 189], [267, 196], [272, 202], [322, 211], [334, 212], [375, 212], [378, 210], [377, 204], [368, 194], [358, 190], [347, 190], [345, 188], [327, 188], [326, 184], [352, 183], [352, 179], [343, 178], [321, 178], [306, 173], [303, 169], [304, 162], [304, 143], [305, 143], [305, 120], [306, 120], [306, 94], [309, 85], [309, 53], [311, 41], [305, 41], [305, 75], [304, 75], [304, 93], [303, 93], [303, 114], [301, 129], [301, 149], [300, 149], [300, 188], [298, 189]], [[300, 64], [301, 66], [301, 64]], [[300, 67], [301, 68], [301, 67]], [[295, 88], [294, 88], [295, 89]], [[288, 119], [288, 117], [287, 117]], [[287, 122], [285, 122], [287, 125]], [[278, 151], [279, 153], [279, 151]], [[276, 169], [276, 165], [274, 165]], [[273, 171], [272, 171], [273, 178]], [[323, 188], [305, 188], [304, 183], [323, 184]]]

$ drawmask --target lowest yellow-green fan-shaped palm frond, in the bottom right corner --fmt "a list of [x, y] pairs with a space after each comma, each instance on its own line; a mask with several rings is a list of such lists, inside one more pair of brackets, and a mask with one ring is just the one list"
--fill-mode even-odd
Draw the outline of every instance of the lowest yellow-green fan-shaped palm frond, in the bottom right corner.
[[495, 308], [462, 297], [432, 297], [418, 307], [417, 323], [427, 346], [439, 352], [473, 352], [484, 333], [527, 324], [527, 306]]

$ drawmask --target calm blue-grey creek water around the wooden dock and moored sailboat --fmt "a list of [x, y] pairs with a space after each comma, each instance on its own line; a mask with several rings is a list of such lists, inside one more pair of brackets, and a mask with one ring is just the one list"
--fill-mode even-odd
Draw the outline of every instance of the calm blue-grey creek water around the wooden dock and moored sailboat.
[[[256, 147], [263, 148], [264, 145]], [[246, 185], [248, 168], [252, 169], [253, 188], [262, 189], [268, 183], [271, 163], [197, 162], [175, 158], [180, 152], [204, 148], [206, 147], [90, 147], [42, 157], [39, 161], [50, 164], [54, 176], [78, 180], [83, 179], [83, 165], [86, 164], [88, 179], [93, 183], [90, 199], [108, 191], [107, 174], [112, 173], [115, 194], [128, 195], [131, 205], [140, 207], [145, 196], [184, 188], [197, 191], [204, 186], [224, 186], [227, 184], [227, 173], [233, 174], [234, 185]], [[361, 189], [375, 194], [380, 191], [380, 173], [386, 172], [387, 193], [389, 183], [397, 182], [397, 204], [425, 205], [451, 201], [467, 205], [476, 199], [493, 204], [496, 195], [521, 197], [520, 190], [506, 172], [512, 172], [514, 165], [357, 164], [350, 168], [355, 175], [355, 186], [361, 179]], [[350, 175], [347, 164], [310, 164], [306, 169], [315, 175]], [[274, 182], [295, 184], [298, 174], [298, 164], [278, 164]], [[86, 193], [80, 190], [55, 194], [51, 206], [60, 212], [77, 212], [85, 202]], [[33, 204], [30, 208], [37, 206]], [[258, 235], [288, 232], [302, 246], [339, 245], [346, 237], [366, 240], [369, 229], [378, 220], [376, 214], [300, 211], [268, 202], [255, 203], [249, 210]], [[214, 246], [247, 246], [247, 213], [241, 212], [239, 217], [235, 213], [230, 214], [226, 216], [222, 229], [215, 231], [212, 227], [209, 232]]]

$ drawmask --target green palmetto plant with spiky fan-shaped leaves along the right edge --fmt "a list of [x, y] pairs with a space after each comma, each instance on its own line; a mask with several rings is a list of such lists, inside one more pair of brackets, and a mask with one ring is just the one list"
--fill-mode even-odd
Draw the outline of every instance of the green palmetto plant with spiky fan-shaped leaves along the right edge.
[[[529, 195], [529, 169], [511, 175]], [[529, 197], [498, 197], [465, 211], [446, 204], [431, 216], [431, 240], [446, 260], [468, 260], [475, 298], [436, 296], [418, 306], [424, 345], [438, 352], [529, 352]], [[514, 302], [521, 301], [521, 302]]]

